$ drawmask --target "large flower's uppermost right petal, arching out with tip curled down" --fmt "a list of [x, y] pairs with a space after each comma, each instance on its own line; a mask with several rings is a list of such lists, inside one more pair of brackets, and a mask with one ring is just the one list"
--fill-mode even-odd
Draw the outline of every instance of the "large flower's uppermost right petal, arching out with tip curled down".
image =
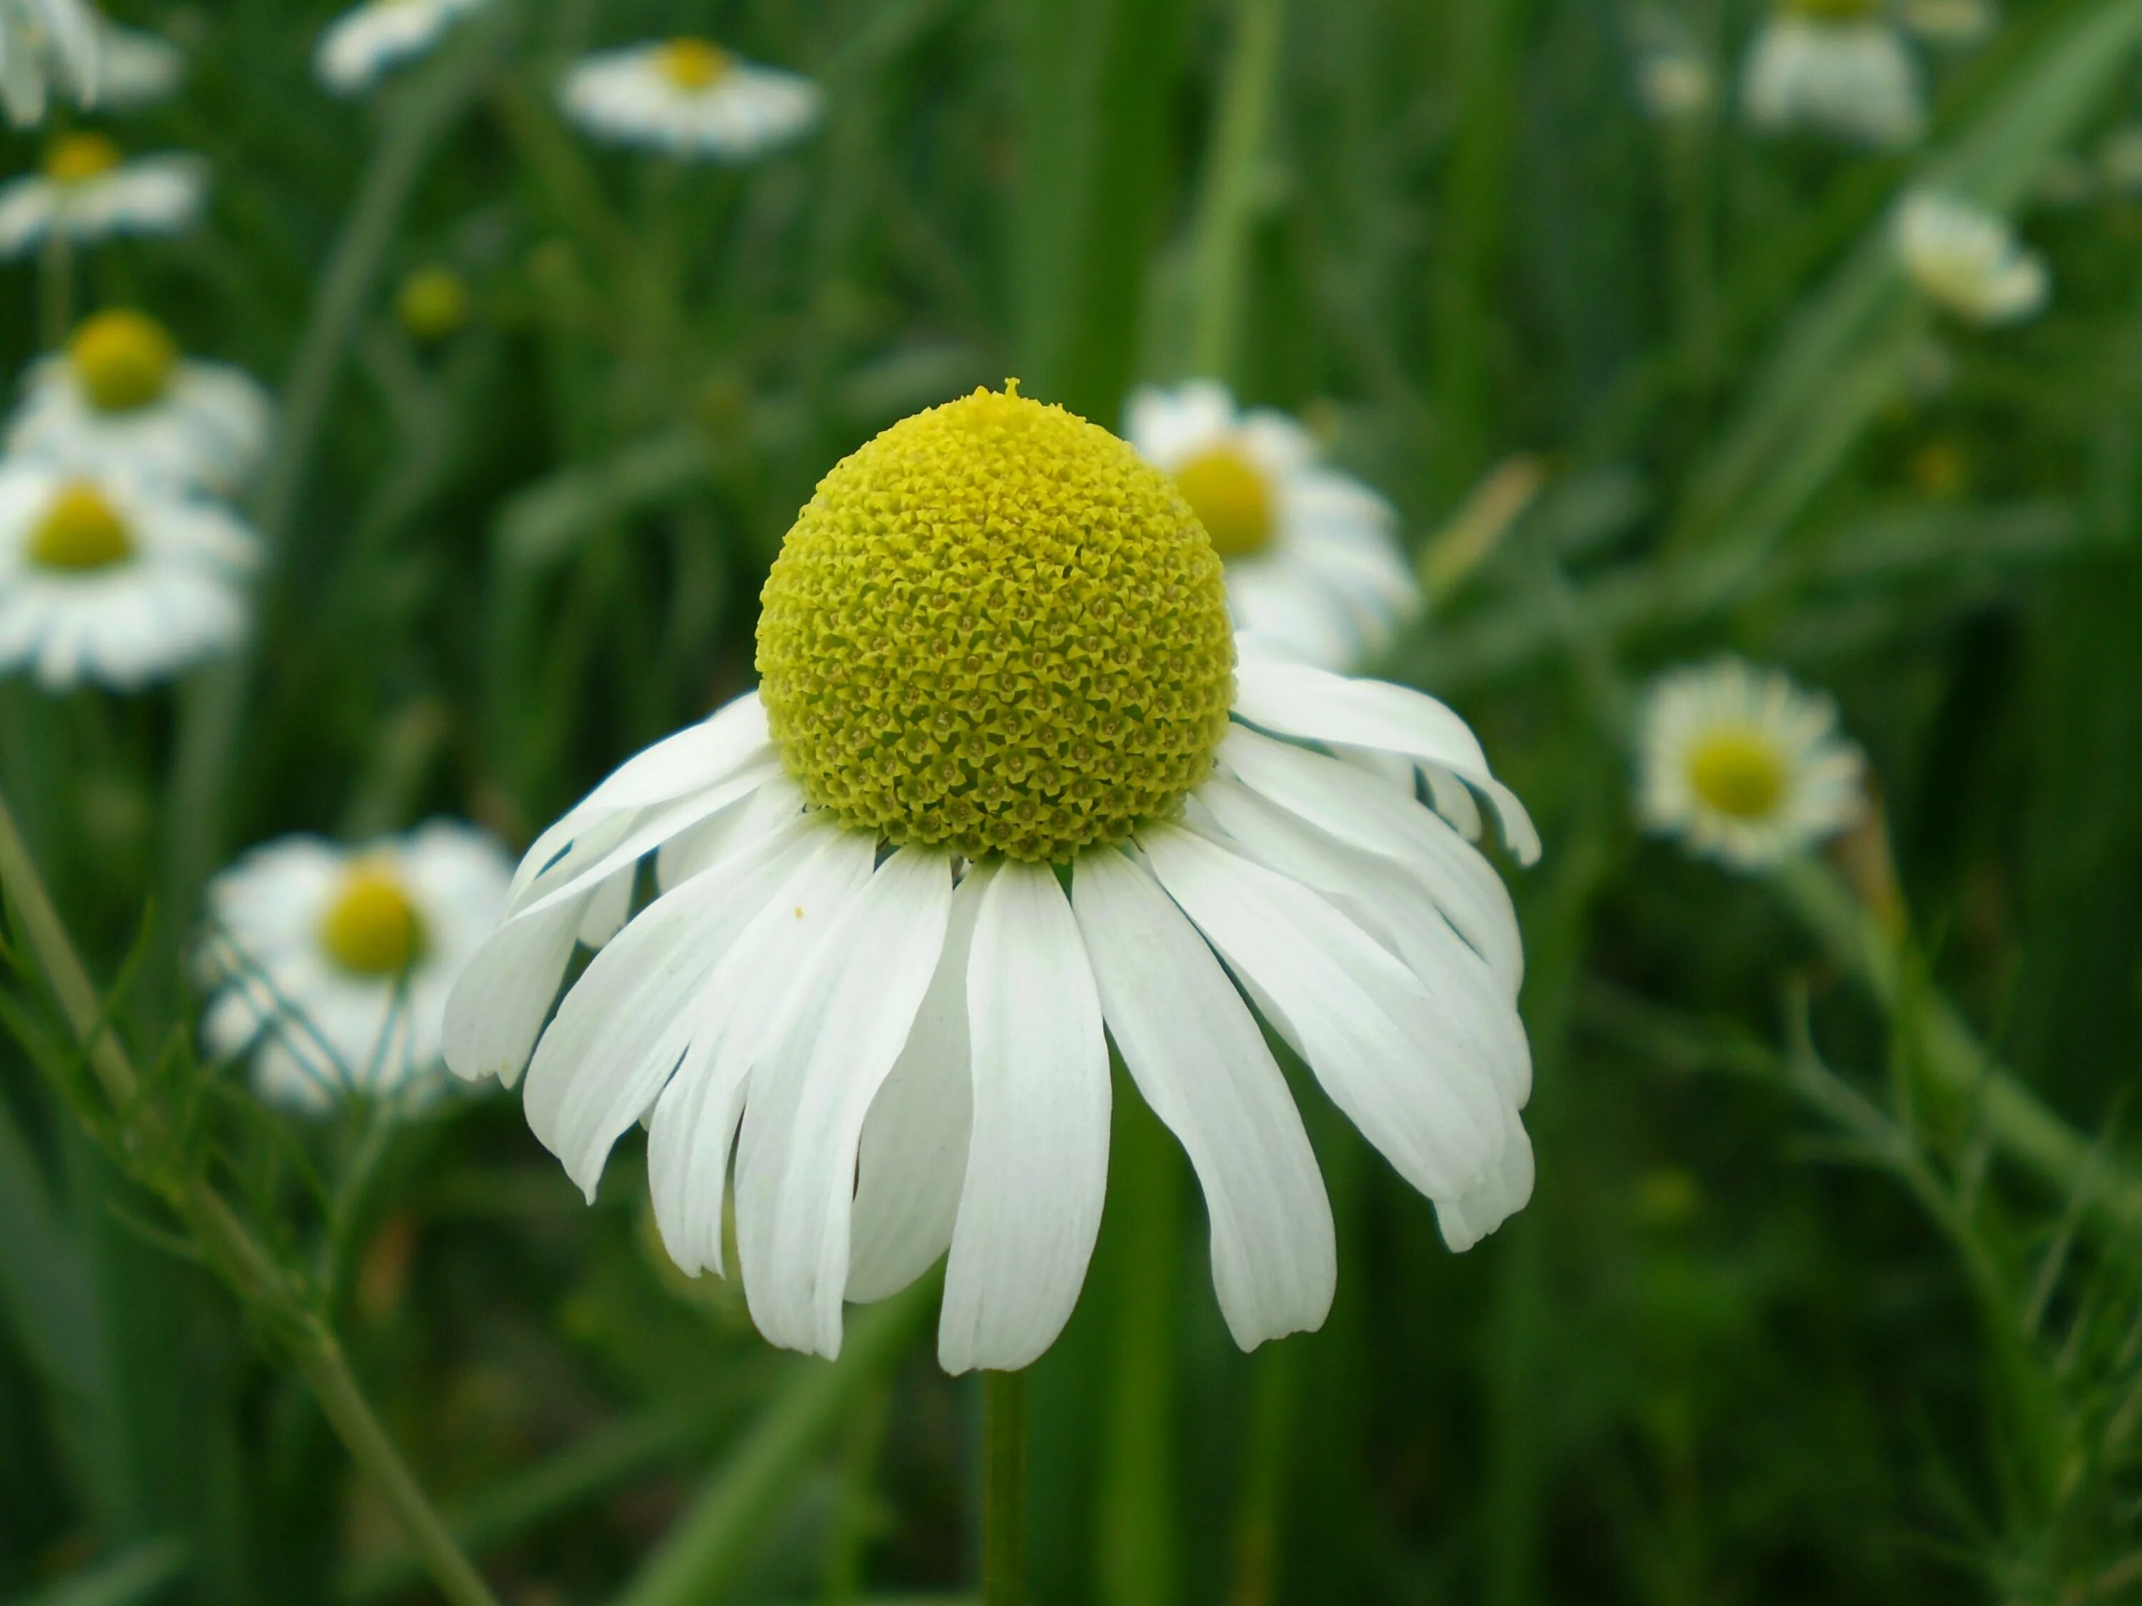
[[1356, 681], [1307, 664], [1242, 662], [1234, 711], [1281, 737], [1347, 747], [1379, 747], [1439, 764], [1495, 805], [1502, 833], [1521, 863], [1540, 857], [1540, 833], [1517, 792], [1497, 782], [1472, 728], [1424, 692], [1386, 681]]

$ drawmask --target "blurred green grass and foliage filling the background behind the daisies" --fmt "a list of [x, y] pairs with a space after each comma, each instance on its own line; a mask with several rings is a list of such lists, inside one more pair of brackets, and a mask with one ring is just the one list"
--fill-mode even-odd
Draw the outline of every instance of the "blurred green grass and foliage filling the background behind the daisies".
[[[191, 56], [120, 135], [203, 152], [214, 201], [77, 304], [283, 392], [274, 561], [236, 666], [0, 685], [0, 782], [148, 1096], [501, 1600], [966, 1597], [979, 1390], [927, 1289], [838, 1366], [771, 1351], [668, 1268], [636, 1139], [589, 1210], [495, 1090], [255, 1109], [188, 1051], [203, 876], [426, 814], [523, 846], [750, 683], [767, 563], [872, 433], [1007, 375], [1116, 424], [1197, 370], [1403, 510], [1433, 608], [1373, 668], [1542, 824], [1540, 1182], [1452, 1257], [1309, 1092], [1339, 1300], [1245, 1358], [1118, 1101], [1035, 1373], [1032, 1597], [2142, 1600], [2142, 193], [2099, 165], [2142, 0], [2013, 0], [1894, 154], [1748, 133], [1763, 13], [1718, 0], [1671, 13], [1718, 75], [1677, 120], [1619, 0], [499, 0], [360, 103], [311, 77], [332, 6], [114, 11]], [[816, 137], [685, 167], [559, 120], [574, 56], [683, 30], [818, 79]], [[2046, 251], [2041, 319], [1909, 293], [1921, 178]], [[439, 340], [396, 321], [424, 266], [469, 287]], [[34, 266], [0, 319], [28, 362]], [[1726, 649], [1868, 747], [1883, 816], [1831, 865], [1630, 822], [1634, 687]], [[6, 1015], [0, 1600], [437, 1597], [278, 1313], [88, 1109], [45, 979]]]

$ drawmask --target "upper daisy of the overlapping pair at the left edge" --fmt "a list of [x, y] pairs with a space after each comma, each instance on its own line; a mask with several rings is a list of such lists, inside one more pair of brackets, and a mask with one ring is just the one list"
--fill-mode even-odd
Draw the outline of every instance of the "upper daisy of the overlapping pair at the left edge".
[[30, 368], [6, 445], [62, 469], [227, 495], [257, 467], [270, 415], [251, 375], [188, 362], [156, 319], [111, 308], [75, 330], [66, 355]]

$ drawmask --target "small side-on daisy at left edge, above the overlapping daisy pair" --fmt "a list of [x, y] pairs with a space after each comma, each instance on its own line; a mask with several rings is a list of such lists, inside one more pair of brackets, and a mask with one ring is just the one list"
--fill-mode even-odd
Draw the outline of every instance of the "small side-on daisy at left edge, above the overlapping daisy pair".
[[45, 236], [103, 240], [114, 233], [180, 233], [201, 214], [208, 163], [184, 152], [126, 161], [101, 133], [51, 141], [45, 169], [0, 184], [0, 257], [19, 257]]

